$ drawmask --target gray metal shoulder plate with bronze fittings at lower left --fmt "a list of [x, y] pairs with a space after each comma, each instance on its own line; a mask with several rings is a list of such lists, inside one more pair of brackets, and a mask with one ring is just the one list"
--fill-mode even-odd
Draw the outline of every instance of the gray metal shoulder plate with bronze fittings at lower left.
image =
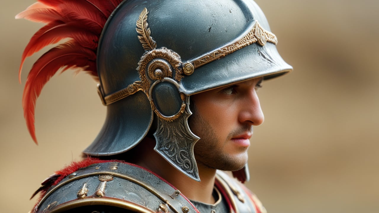
[[86, 206], [112, 206], [138, 213], [199, 213], [163, 179], [144, 168], [120, 162], [78, 169], [50, 188], [34, 212], [58, 213]]

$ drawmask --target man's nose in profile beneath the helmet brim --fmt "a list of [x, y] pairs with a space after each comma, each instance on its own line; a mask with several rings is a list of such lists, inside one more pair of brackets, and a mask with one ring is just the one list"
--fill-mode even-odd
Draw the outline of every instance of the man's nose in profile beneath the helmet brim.
[[248, 123], [254, 126], [261, 125], [265, 121], [255, 89], [246, 93], [238, 119], [241, 123]]

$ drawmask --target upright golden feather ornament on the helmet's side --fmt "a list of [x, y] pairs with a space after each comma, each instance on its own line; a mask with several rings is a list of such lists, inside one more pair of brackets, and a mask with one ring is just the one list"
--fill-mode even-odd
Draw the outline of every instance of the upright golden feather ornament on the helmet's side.
[[140, 34], [140, 36], [138, 36], [139, 42], [141, 42], [145, 51], [153, 50], [157, 47], [157, 43], [150, 36], [150, 28], [147, 28], [149, 26], [147, 23], [148, 13], [147, 9], [144, 8], [141, 14], [139, 14], [136, 28], [137, 33]]

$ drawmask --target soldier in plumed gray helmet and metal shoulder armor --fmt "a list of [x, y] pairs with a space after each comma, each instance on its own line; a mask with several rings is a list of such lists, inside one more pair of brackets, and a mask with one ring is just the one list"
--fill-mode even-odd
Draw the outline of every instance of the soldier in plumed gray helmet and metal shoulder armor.
[[85, 160], [45, 180], [33, 212], [265, 212], [236, 179], [264, 120], [256, 90], [292, 67], [255, 2], [39, 0], [16, 18], [46, 23], [20, 71], [60, 42], [25, 85], [34, 141], [36, 98], [60, 69], [94, 76], [107, 107]]

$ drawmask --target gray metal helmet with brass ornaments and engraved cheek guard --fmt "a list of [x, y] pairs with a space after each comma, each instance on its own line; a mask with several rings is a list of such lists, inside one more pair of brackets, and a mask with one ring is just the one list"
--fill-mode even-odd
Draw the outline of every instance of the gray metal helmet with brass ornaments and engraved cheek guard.
[[252, 0], [125, 0], [109, 17], [97, 52], [105, 124], [84, 153], [136, 146], [157, 117], [155, 150], [199, 181], [188, 127], [189, 96], [292, 67]]

